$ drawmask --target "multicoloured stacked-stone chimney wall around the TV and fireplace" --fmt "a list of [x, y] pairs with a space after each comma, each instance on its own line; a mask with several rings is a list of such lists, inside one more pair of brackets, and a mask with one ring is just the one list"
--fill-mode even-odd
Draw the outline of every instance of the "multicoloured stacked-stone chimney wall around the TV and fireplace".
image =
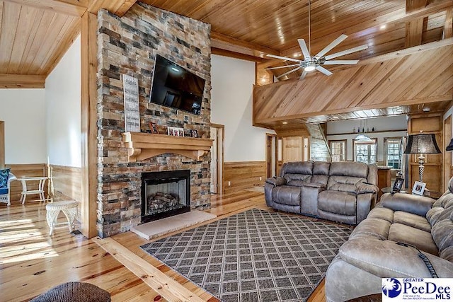
[[[200, 115], [149, 103], [154, 59], [160, 54], [206, 80]], [[98, 235], [112, 236], [141, 221], [142, 172], [190, 170], [190, 207], [210, 207], [210, 153], [200, 161], [166, 153], [127, 163], [122, 74], [139, 80], [142, 132], [149, 122], [197, 129], [210, 136], [210, 25], [137, 2], [119, 18], [98, 13]]]

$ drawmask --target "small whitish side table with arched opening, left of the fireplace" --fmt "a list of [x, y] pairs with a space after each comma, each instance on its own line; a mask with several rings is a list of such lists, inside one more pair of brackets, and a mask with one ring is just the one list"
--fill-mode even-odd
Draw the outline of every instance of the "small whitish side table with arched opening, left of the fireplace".
[[[51, 202], [45, 205], [47, 225], [50, 228], [49, 235], [52, 236], [55, 228], [69, 226], [69, 233], [74, 228], [74, 221], [77, 216], [77, 207], [79, 202], [75, 200], [66, 200], [64, 202]], [[62, 211], [66, 216], [67, 222], [57, 222], [59, 211]]]

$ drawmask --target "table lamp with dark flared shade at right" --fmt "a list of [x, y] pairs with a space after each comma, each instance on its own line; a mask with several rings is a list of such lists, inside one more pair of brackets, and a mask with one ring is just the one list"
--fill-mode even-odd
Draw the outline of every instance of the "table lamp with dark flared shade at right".
[[435, 134], [411, 134], [408, 137], [408, 144], [405, 154], [420, 154], [418, 156], [418, 175], [420, 182], [423, 182], [423, 170], [425, 170], [425, 156], [428, 153], [441, 153], [439, 146], [437, 146]]

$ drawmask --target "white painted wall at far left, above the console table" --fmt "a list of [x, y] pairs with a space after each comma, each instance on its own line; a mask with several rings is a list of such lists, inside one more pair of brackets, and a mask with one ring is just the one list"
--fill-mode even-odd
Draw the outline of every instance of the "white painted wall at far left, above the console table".
[[44, 89], [0, 89], [5, 122], [5, 163], [45, 163]]

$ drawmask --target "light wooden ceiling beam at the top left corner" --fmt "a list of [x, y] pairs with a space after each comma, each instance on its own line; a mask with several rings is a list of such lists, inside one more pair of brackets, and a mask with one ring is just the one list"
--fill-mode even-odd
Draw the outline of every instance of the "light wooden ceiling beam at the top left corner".
[[64, 13], [69, 16], [81, 17], [88, 4], [88, 0], [4, 0], [21, 4], [24, 6], [33, 6], [46, 11], [55, 13]]

